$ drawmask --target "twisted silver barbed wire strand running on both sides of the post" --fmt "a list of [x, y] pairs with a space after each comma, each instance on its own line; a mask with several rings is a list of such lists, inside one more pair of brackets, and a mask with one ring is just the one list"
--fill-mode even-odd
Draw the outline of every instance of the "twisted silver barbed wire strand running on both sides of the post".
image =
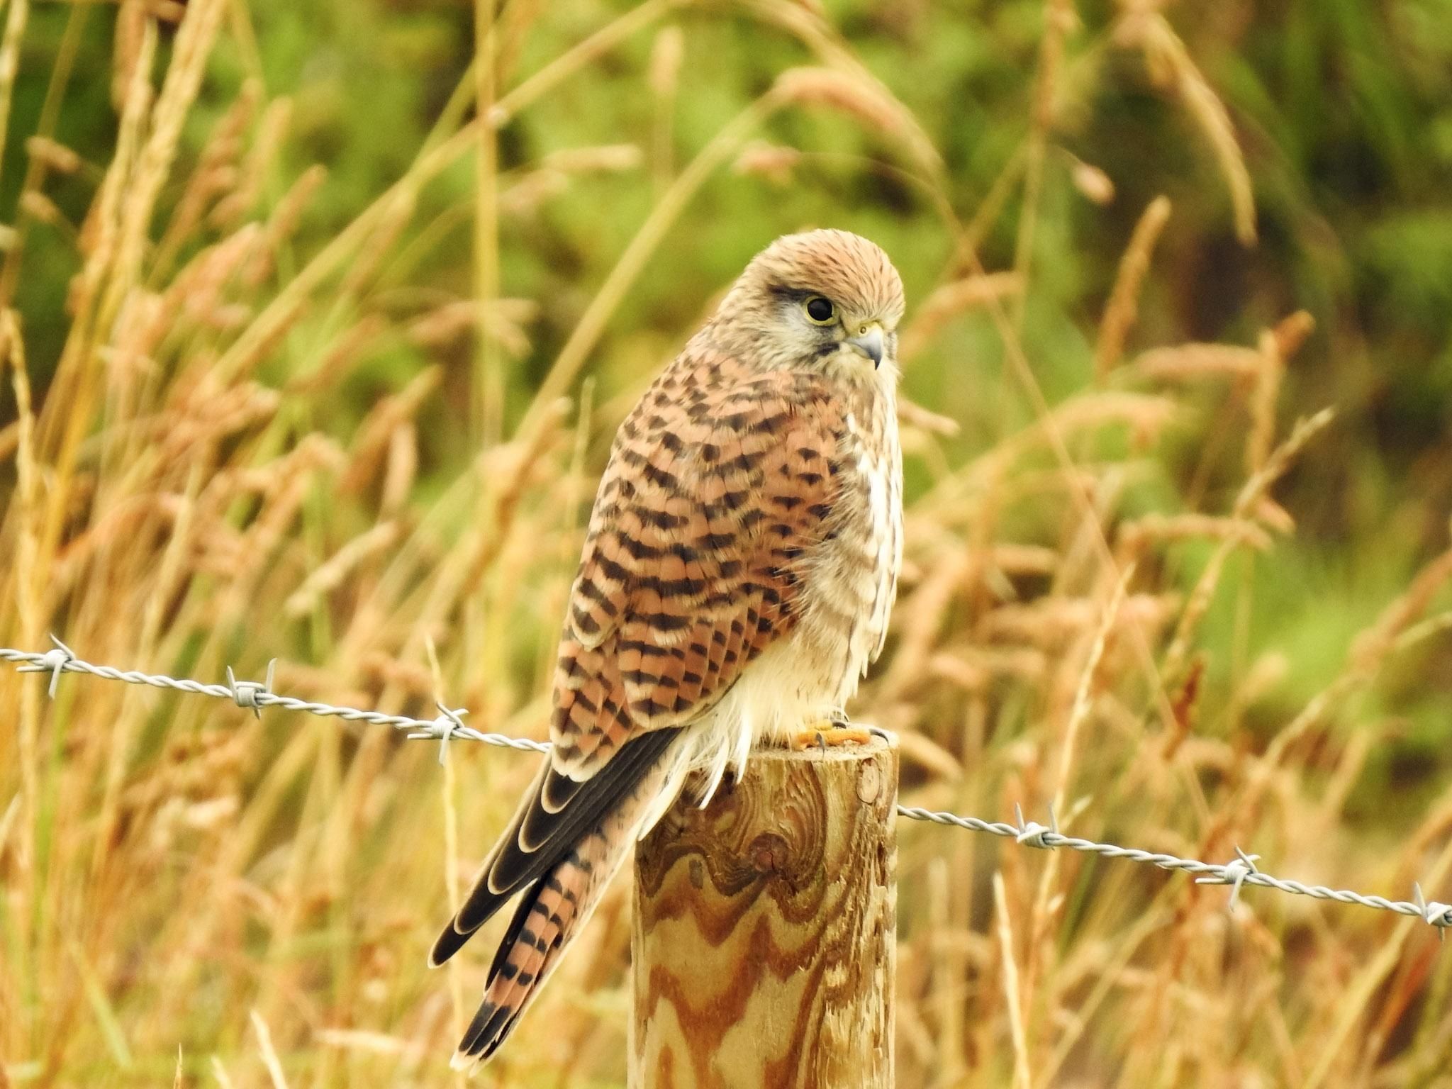
[[[359, 710], [357, 707], [337, 707], [330, 703], [299, 700], [293, 696], [279, 696], [273, 691], [273, 671], [277, 664], [276, 659], [267, 665], [266, 681], [238, 681], [232, 674], [231, 666], [228, 666], [227, 684], [203, 684], [202, 681], [166, 677], [163, 674], [144, 674], [136, 669], [116, 669], [109, 665], [93, 665], [91, 662], [80, 659], [74, 650], [55, 636], [51, 636], [51, 642], [55, 643], [55, 646], [45, 653], [0, 648], [0, 661], [16, 664], [19, 672], [49, 674], [51, 681], [48, 691], [52, 700], [55, 698], [61, 674], [76, 672], [90, 674], [91, 677], [100, 677], [107, 681], [125, 681], [126, 684], [144, 684], [152, 688], [171, 688], [182, 693], [211, 696], [218, 700], [231, 700], [238, 707], [251, 710], [253, 714], [258, 717], [261, 717], [261, 709], [264, 707], [283, 707], [290, 711], [305, 711], [308, 714], [337, 717], [346, 722], [366, 722], [375, 726], [392, 726], [396, 730], [407, 730], [407, 736], [409, 739], [440, 742], [440, 762], [444, 759], [449, 742], [454, 738], [476, 741], [505, 749], [518, 749], [521, 752], [549, 752], [552, 748], [549, 742], [543, 741], [510, 738], [502, 733], [482, 733], [463, 725], [463, 716], [468, 714], [465, 709], [449, 709], [441, 703], [436, 703], [436, 707], [439, 709], [437, 717], [412, 719], [407, 714], [383, 714], [382, 711], [366, 711]], [[1131, 862], [1147, 862], [1162, 870], [1180, 870], [1188, 874], [1196, 874], [1196, 884], [1230, 886], [1231, 908], [1236, 906], [1241, 887], [1252, 884], [1265, 889], [1275, 889], [1282, 893], [1291, 893], [1294, 896], [1310, 896], [1317, 900], [1334, 900], [1336, 903], [1358, 903], [1363, 908], [1407, 915], [1422, 919], [1429, 926], [1435, 926], [1439, 938], [1445, 938], [1446, 928], [1452, 926], [1452, 905], [1427, 900], [1422, 894], [1420, 884], [1413, 884], [1414, 899], [1388, 900], [1384, 896], [1366, 896], [1347, 889], [1330, 889], [1324, 884], [1304, 884], [1284, 877], [1273, 877], [1256, 865], [1260, 855], [1246, 854], [1239, 847], [1236, 848], [1236, 858], [1228, 862], [1202, 862], [1196, 858], [1179, 858], [1178, 855], [1144, 851], [1137, 847], [1102, 844], [1093, 839], [1080, 839], [1077, 836], [1063, 835], [1059, 831], [1059, 820], [1051, 807], [1048, 812], [1048, 825], [1024, 820], [1024, 813], [1018, 806], [1013, 806], [1013, 813], [1015, 823], [1011, 825], [1000, 820], [982, 820], [979, 817], [960, 816], [958, 813], [922, 809], [919, 806], [897, 806], [897, 815], [909, 817], [910, 820], [925, 820], [934, 825], [961, 828], [968, 832], [986, 832], [989, 835], [1013, 839], [1022, 847], [1035, 847], [1040, 849], [1064, 847], [1070, 851], [1095, 854], [1102, 858], [1122, 858]]]

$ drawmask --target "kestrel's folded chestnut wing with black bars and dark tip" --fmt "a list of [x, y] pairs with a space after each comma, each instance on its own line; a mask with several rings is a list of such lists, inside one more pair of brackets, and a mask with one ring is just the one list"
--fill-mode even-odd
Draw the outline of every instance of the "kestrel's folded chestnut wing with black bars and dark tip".
[[433, 963], [600, 828], [793, 627], [799, 560], [831, 533], [842, 427], [819, 379], [709, 351], [677, 360], [621, 424], [560, 640], [555, 749]]

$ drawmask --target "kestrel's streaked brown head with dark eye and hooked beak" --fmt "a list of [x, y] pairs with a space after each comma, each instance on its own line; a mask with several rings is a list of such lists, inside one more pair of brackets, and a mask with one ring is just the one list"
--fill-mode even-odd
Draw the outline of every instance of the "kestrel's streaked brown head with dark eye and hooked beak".
[[847, 231], [807, 231], [756, 254], [716, 319], [767, 369], [864, 380], [896, 373], [902, 314], [902, 277], [878, 245]]

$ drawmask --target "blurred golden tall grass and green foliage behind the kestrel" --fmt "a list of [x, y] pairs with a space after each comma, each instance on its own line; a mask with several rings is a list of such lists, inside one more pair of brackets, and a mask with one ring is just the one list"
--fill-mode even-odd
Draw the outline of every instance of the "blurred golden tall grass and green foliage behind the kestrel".
[[[0, 645], [543, 736], [617, 421], [842, 227], [912, 302], [905, 797], [1452, 899], [1452, 3], [492, 9], [0, 6]], [[436, 756], [0, 671], [0, 1086], [453, 1083], [534, 759]], [[903, 1089], [1452, 1086], [1416, 921], [899, 880]], [[623, 1083], [627, 910], [479, 1083]]]

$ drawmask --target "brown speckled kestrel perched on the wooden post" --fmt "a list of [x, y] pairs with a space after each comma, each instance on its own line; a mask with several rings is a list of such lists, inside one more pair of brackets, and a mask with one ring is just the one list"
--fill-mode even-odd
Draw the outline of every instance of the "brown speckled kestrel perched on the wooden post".
[[[690, 778], [836, 739], [902, 566], [903, 286], [845, 231], [778, 238], [616, 434], [555, 669], [553, 751], [434, 942], [523, 890], [454, 1056], [492, 1056]], [[696, 774], [700, 772], [700, 774]]]

